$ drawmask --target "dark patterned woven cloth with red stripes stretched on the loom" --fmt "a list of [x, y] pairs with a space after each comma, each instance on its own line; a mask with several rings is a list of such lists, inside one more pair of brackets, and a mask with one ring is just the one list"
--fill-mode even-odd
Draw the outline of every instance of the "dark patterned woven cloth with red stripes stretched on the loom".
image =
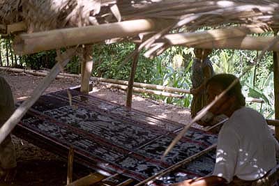
[[[41, 96], [18, 127], [28, 128], [33, 135], [43, 136], [58, 146], [73, 146], [83, 161], [90, 162], [86, 165], [93, 168], [144, 180], [217, 141], [215, 134], [190, 128], [162, 160], [164, 150], [182, 124], [74, 90], [70, 93], [72, 106], [66, 91]], [[204, 176], [213, 170], [213, 159], [211, 154], [204, 155], [174, 171], [175, 178], [167, 182]]]

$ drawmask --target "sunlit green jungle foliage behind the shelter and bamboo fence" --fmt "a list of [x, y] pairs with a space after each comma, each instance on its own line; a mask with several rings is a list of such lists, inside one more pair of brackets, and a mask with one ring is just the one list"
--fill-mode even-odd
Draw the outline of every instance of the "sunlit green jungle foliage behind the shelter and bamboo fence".
[[[127, 63], [123, 63], [123, 61], [134, 49], [135, 45], [128, 42], [93, 45], [92, 75], [128, 80], [131, 60]], [[56, 57], [54, 50], [17, 56], [11, 47], [10, 38], [1, 38], [0, 54], [1, 66], [32, 70], [52, 68]], [[255, 59], [258, 55], [257, 51], [214, 49], [209, 58], [213, 63], [215, 73], [232, 73], [239, 77], [249, 68], [250, 70], [241, 78], [243, 93], [246, 97], [262, 99], [264, 103], [247, 102], [247, 105], [257, 109], [266, 118], [274, 118], [273, 54], [266, 52], [256, 64]], [[146, 59], [140, 54], [135, 82], [190, 89], [191, 66], [194, 57], [193, 48], [187, 47], [170, 47], [154, 59]], [[77, 56], [68, 63], [65, 72], [80, 74], [80, 62]], [[163, 95], [143, 94], [143, 96], [182, 107], [190, 107], [192, 100], [190, 94], [186, 94], [183, 99]]]

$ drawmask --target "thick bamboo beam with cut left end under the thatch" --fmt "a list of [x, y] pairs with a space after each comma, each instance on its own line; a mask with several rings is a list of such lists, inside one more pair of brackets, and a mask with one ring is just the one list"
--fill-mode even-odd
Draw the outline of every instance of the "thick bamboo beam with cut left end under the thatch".
[[160, 30], [169, 21], [150, 19], [130, 20], [79, 28], [56, 29], [36, 33], [22, 33], [15, 37], [15, 54], [32, 54], [49, 49], [100, 42], [111, 38], [135, 36], [138, 33]]

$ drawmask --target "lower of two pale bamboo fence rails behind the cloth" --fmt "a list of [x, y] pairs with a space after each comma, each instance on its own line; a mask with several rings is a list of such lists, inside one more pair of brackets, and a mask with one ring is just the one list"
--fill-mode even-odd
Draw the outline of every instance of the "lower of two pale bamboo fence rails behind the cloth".
[[[128, 86], [126, 86], [126, 85], [110, 84], [110, 83], [105, 83], [105, 84], [107, 84], [107, 88], [119, 88], [124, 91], [126, 91], [128, 88]], [[137, 92], [137, 93], [149, 93], [149, 94], [155, 94], [155, 95], [163, 95], [163, 96], [172, 97], [172, 98], [184, 98], [184, 95], [179, 95], [176, 93], [166, 93], [166, 92], [162, 92], [162, 91], [153, 91], [153, 90], [149, 90], [149, 89], [136, 88], [136, 87], [133, 87], [133, 91]]]

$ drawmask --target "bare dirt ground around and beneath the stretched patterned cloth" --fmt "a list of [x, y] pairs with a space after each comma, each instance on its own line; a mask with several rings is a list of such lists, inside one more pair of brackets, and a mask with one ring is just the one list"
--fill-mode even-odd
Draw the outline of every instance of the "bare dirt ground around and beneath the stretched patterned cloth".
[[[10, 84], [15, 101], [24, 100], [29, 97], [31, 92], [43, 77], [36, 77], [24, 73], [10, 73], [0, 71], [0, 75], [5, 77]], [[64, 88], [77, 86], [80, 79], [56, 79], [45, 93], [59, 91]], [[93, 87], [91, 95], [99, 98], [116, 102], [126, 103], [126, 93], [123, 91], [109, 89], [104, 85], [97, 84]], [[186, 123], [190, 120], [190, 111], [187, 108], [177, 107], [164, 102], [154, 101], [133, 95], [133, 109], [148, 112], [158, 117], [167, 118], [172, 121]], [[67, 162], [58, 155], [47, 152], [42, 148], [13, 136], [13, 142], [17, 151], [17, 176], [13, 183], [0, 183], [6, 185], [66, 185]], [[86, 176], [90, 170], [82, 166], [75, 165], [73, 168], [74, 180], [81, 176]]]

